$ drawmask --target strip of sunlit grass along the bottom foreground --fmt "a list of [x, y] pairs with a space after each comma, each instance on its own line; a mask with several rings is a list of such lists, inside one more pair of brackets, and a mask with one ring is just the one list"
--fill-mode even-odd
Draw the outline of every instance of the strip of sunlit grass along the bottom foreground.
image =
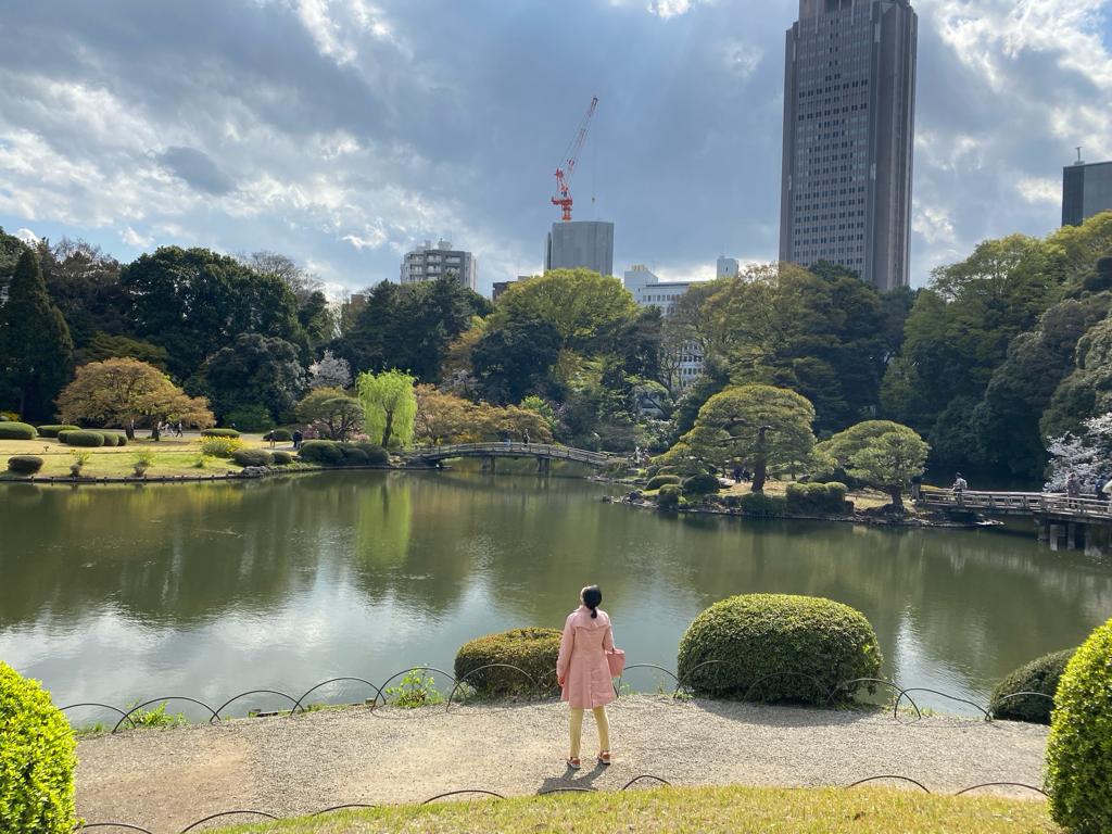
[[[481, 778], [476, 780], [476, 784], [481, 782]], [[537, 834], [579, 831], [636, 834], [1033, 834], [1061, 830], [1051, 822], [1045, 802], [941, 796], [883, 788], [681, 787], [445, 802], [424, 806], [398, 805], [220, 831], [225, 834]]]

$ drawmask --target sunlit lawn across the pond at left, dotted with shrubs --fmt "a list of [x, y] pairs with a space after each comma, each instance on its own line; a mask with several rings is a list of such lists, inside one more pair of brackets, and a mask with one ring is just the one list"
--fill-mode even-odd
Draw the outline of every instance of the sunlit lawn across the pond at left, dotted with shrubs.
[[[82, 477], [129, 477], [132, 473], [136, 453], [152, 451], [155, 463], [147, 470], [148, 477], [170, 475], [219, 475], [226, 471], [239, 471], [240, 467], [224, 458], [205, 457], [205, 466], [198, 467], [197, 460], [201, 454], [199, 437], [163, 438], [158, 443], [146, 437], [129, 443], [127, 446], [111, 448], [77, 449], [66, 446], [56, 439], [40, 437], [34, 440], [0, 440], [0, 479], [11, 479], [6, 473], [8, 458], [13, 455], [36, 455], [43, 460], [39, 477], [69, 477], [76, 451], [91, 453], [89, 461], [81, 471]], [[260, 435], [244, 435], [240, 438], [245, 448], [269, 448], [270, 444]], [[279, 444], [277, 448], [289, 449], [290, 444]]]

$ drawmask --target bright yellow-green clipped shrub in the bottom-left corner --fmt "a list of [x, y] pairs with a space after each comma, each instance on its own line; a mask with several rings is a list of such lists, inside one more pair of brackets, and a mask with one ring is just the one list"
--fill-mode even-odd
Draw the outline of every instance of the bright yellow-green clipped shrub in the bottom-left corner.
[[0, 662], [0, 831], [73, 830], [76, 748], [50, 695]]

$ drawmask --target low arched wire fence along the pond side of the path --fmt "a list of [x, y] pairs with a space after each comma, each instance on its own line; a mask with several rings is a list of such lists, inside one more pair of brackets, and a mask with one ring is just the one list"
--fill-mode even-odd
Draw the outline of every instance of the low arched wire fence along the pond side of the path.
[[[675, 686], [672, 689], [672, 694], [669, 696], [669, 699], [674, 701], [674, 702], [675, 701], [679, 701], [685, 693], [692, 693], [693, 692], [693, 689], [692, 689], [692, 682], [695, 678], [696, 674], [701, 669], [704, 669], [704, 668], [707, 668], [707, 667], [714, 666], [714, 665], [729, 664], [729, 663], [732, 663], [732, 662], [731, 661], [722, 661], [722, 659], [711, 659], [711, 661], [704, 661], [703, 663], [699, 663], [699, 664], [693, 666], [685, 674], [685, 676], [684, 676], [685, 679], [686, 679], [686, 684], [687, 684], [686, 686], [685, 686], [685, 679], [681, 679], [679, 675], [677, 675], [675, 672], [672, 672], [671, 669], [668, 669], [668, 668], [666, 668], [664, 666], [661, 666], [658, 664], [654, 664], [654, 663], [629, 664], [629, 665], [627, 665], [625, 667], [625, 671], [623, 672], [622, 676], [614, 679], [614, 694], [615, 694], [616, 698], [620, 698], [622, 697], [622, 694], [623, 694], [623, 692], [622, 692], [623, 691], [623, 682], [625, 681], [626, 675], [629, 672], [632, 672], [634, 669], [652, 669], [652, 671], [654, 671], [654, 672], [656, 672], [658, 674], [662, 674], [664, 676], [667, 676], [667, 677], [672, 678], [672, 681], [674, 682]], [[71, 711], [73, 711], [73, 709], [87, 708], [87, 707], [97, 707], [97, 708], [100, 708], [100, 709], [106, 709], [106, 711], [112, 712], [112, 713], [119, 715], [119, 719], [116, 722], [116, 725], [110, 731], [111, 733], [115, 734], [115, 733], [118, 733], [120, 731], [120, 728], [123, 726], [125, 723], [127, 723], [127, 724], [130, 725], [129, 728], [136, 728], [136, 727], [138, 727], [139, 725], [136, 723], [136, 721], [135, 721], [135, 718], [132, 716], [135, 716], [137, 714], [141, 714], [142, 711], [146, 709], [147, 707], [149, 707], [151, 705], [155, 705], [155, 704], [166, 704], [166, 703], [169, 703], [169, 702], [186, 702], [186, 703], [190, 703], [190, 704], [193, 704], [196, 706], [202, 707], [208, 713], [208, 716], [209, 716], [208, 717], [208, 723], [209, 724], [222, 723], [225, 721], [225, 718], [229, 717], [229, 716], [221, 717], [221, 714], [224, 713], [225, 709], [227, 709], [229, 706], [231, 706], [236, 702], [238, 702], [238, 701], [240, 701], [242, 698], [249, 697], [251, 695], [271, 695], [271, 696], [285, 698], [287, 702], [289, 702], [290, 707], [289, 707], [288, 711], [278, 711], [276, 713], [267, 713], [267, 715], [286, 715], [286, 716], [290, 716], [291, 717], [291, 716], [297, 715], [298, 713], [305, 714], [305, 713], [309, 712], [308, 707], [314, 706], [317, 703], [322, 703], [322, 704], [326, 704], [328, 706], [358, 706], [357, 704], [345, 704], [345, 703], [337, 704], [335, 702], [327, 702], [327, 701], [326, 702], [314, 702], [314, 703], [310, 703], [310, 702], [307, 701], [307, 698], [312, 693], [315, 693], [318, 689], [321, 689], [322, 687], [328, 686], [330, 684], [337, 684], [337, 683], [357, 683], [357, 684], [363, 684], [364, 686], [368, 687], [368, 689], [370, 689], [370, 691], [374, 692], [374, 697], [370, 698], [369, 701], [365, 699], [363, 702], [363, 704], [361, 704], [363, 706], [369, 707], [370, 712], [374, 713], [379, 707], [381, 707], [381, 706], [388, 706], [389, 705], [389, 703], [390, 703], [389, 699], [388, 699], [388, 696], [389, 696], [389, 693], [390, 693], [389, 686], [395, 681], [397, 681], [398, 678], [401, 678], [401, 677], [404, 677], [406, 675], [409, 675], [411, 673], [420, 673], [421, 675], [425, 675], [425, 674], [428, 674], [428, 673], [433, 673], [433, 674], [436, 674], [436, 675], [441, 675], [441, 676], [444, 676], [445, 678], [447, 678], [450, 682], [450, 689], [448, 692], [447, 698], [444, 702], [444, 708], [445, 708], [446, 712], [448, 712], [448, 711], [451, 709], [454, 703], [456, 705], [459, 704], [459, 701], [457, 699], [457, 694], [460, 692], [461, 687], [469, 686], [468, 679], [469, 678], [474, 678], [475, 676], [479, 675], [480, 673], [488, 672], [490, 669], [510, 669], [510, 671], [516, 672], [516, 673], [518, 673], [519, 675], [523, 676], [524, 682], [527, 682], [527, 685], [523, 686], [524, 693], [519, 692], [515, 696], [517, 698], [528, 699], [528, 698], [535, 697], [536, 699], [546, 699], [548, 697], [554, 696], [555, 693], [556, 693], [556, 691], [557, 691], [556, 679], [555, 679], [555, 673], [553, 673], [552, 679], [542, 679], [542, 681], [538, 681], [534, 675], [529, 674], [527, 671], [525, 671], [520, 666], [515, 666], [515, 665], [508, 664], [508, 663], [485, 664], [483, 666], [478, 666], [476, 668], [473, 668], [473, 669], [468, 671], [466, 674], [460, 675], [458, 677], [456, 675], [454, 675], [453, 673], [447, 672], [446, 669], [443, 669], [443, 668], [439, 668], [439, 667], [436, 667], [436, 666], [418, 665], [418, 666], [407, 666], [406, 668], [401, 669], [400, 672], [396, 672], [395, 674], [393, 674], [388, 678], [386, 678], [381, 683], [381, 685], [375, 684], [373, 681], [370, 681], [368, 678], [358, 677], [358, 676], [351, 676], [351, 675], [341, 675], [341, 676], [337, 676], [337, 677], [330, 677], [330, 678], [328, 678], [326, 681], [321, 681], [320, 683], [314, 684], [308, 689], [306, 689], [299, 697], [294, 697], [289, 693], [281, 692], [280, 689], [254, 688], [254, 689], [247, 689], [247, 691], [241, 692], [241, 693], [239, 693], [237, 695], [234, 695], [232, 697], [228, 698], [222, 704], [220, 704], [220, 706], [218, 706], [218, 707], [212, 707], [208, 703], [206, 703], [203, 701], [200, 701], [199, 698], [195, 698], [195, 697], [188, 696], [188, 695], [165, 695], [165, 696], [160, 696], [160, 697], [148, 698], [148, 699], [145, 699], [143, 702], [137, 703], [135, 705], [129, 705], [126, 709], [121, 709], [120, 707], [113, 706], [112, 704], [106, 704], [106, 703], [102, 703], [102, 702], [92, 702], [92, 701], [80, 702], [80, 703], [76, 703], [76, 704], [68, 704], [66, 706], [60, 707], [60, 709], [61, 709], [62, 713], [69, 713]], [[782, 679], [782, 678], [796, 678], [796, 679], [800, 679], [800, 681], [803, 681], [803, 682], [808, 682], [810, 684], [812, 684], [814, 686], [814, 695], [816, 697], [813, 701], [810, 701], [808, 703], [805, 703], [804, 704], [805, 706], [813, 706], [813, 707], [820, 707], [820, 708], [831, 708], [831, 707], [835, 706], [836, 702], [844, 703], [844, 697], [840, 698], [840, 696], [838, 696], [838, 694], [841, 692], [843, 692], [843, 691], [846, 692], [847, 694], [850, 694], [852, 696], [862, 686], [864, 686], [865, 688], [867, 688], [871, 694], [874, 693], [875, 689], [878, 688], [878, 687], [886, 687], [887, 689], [891, 691], [890, 702], [891, 702], [891, 708], [892, 708], [892, 717], [893, 717], [893, 719], [895, 719], [896, 722], [902, 723], [902, 724], [909, 723], [907, 721], [901, 719], [901, 713], [900, 713], [900, 711], [901, 711], [901, 706], [903, 705], [904, 701], [907, 702], [907, 707], [906, 707], [907, 711], [910, 713], [914, 714], [914, 718], [912, 721], [919, 721], [919, 719], [921, 719], [923, 717], [923, 712], [920, 708], [919, 704], [915, 702], [915, 699], [912, 697], [912, 693], [931, 694], [931, 695], [935, 695], [937, 697], [942, 697], [942, 698], [946, 698], [946, 699], [953, 701], [955, 703], [964, 704], [964, 705], [973, 708], [974, 711], [981, 713], [981, 715], [984, 716], [984, 721], [985, 722], [992, 722], [992, 721], [996, 719], [996, 716], [992, 712], [992, 705], [991, 704], [987, 707], [985, 707], [985, 706], [982, 706], [981, 704], [977, 704], [976, 702], [971, 701], [969, 698], [961, 697], [961, 696], [957, 696], [957, 695], [952, 695], [950, 693], [945, 693], [945, 692], [942, 692], [940, 689], [932, 689], [932, 688], [921, 687], [921, 686], [903, 687], [903, 686], [900, 686], [895, 681], [890, 681], [887, 678], [881, 678], [881, 677], [856, 677], [856, 678], [851, 678], [851, 679], [847, 679], [847, 681], [838, 682], [838, 683], [834, 684], [832, 687], [827, 688], [827, 686], [822, 681], [820, 681], [817, 677], [815, 677], [813, 675], [808, 675], [808, 674], [803, 673], [803, 672], [795, 672], [795, 671], [774, 672], [774, 673], [764, 675], [764, 676], [757, 678], [756, 681], [753, 681], [745, 688], [744, 693], [742, 694], [742, 696], [739, 698], [737, 698], [737, 697], [729, 697], [729, 698], [723, 698], [723, 699], [726, 699], [726, 701], [742, 701], [742, 702], [747, 702], [747, 703], [764, 703], [764, 704], [792, 703], [792, 702], [785, 702], [783, 699], [768, 699], [768, 698], [761, 698], [761, 697], [758, 697], [759, 696], [759, 692], [761, 692], [761, 689], [759, 689], [761, 686], [763, 686], [763, 685], [765, 685], [765, 684], [767, 684], [767, 683], [770, 683], [772, 681]], [[523, 684], [524, 684], [524, 682], [523, 682]], [[754, 697], [755, 695], [757, 697]], [[1016, 692], [1016, 693], [1011, 693], [1009, 695], [1005, 695], [1005, 696], [1002, 696], [1002, 697], [997, 698], [997, 702], [999, 703], [1004, 703], [1004, 702], [1011, 701], [1013, 698], [1020, 698], [1020, 697], [1045, 698], [1046, 701], [1050, 702], [1050, 704], [1051, 704], [1052, 707], [1054, 705], [1054, 698], [1053, 698], [1053, 696], [1048, 695], [1046, 693], [1041, 693], [1041, 692]], [[483, 705], [484, 703], [497, 703], [497, 702], [498, 702], [498, 698], [485, 698], [485, 697], [480, 697], [480, 698], [474, 699], [474, 701], [469, 698], [467, 701], [467, 703], [469, 705], [476, 705], [476, 704], [477, 705]]]

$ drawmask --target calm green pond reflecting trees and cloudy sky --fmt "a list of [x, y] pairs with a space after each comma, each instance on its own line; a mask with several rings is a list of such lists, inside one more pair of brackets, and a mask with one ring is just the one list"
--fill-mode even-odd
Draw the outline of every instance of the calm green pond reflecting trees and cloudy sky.
[[[675, 669], [684, 629], [725, 596], [810, 594], [864, 612], [904, 686], [986, 703], [1001, 676], [1112, 616], [1112, 564], [1034, 535], [668, 517], [606, 504], [609, 490], [461, 470], [4, 485], [0, 659], [59, 705], [296, 697], [336, 676], [450, 671], [471, 637], [560, 627], [579, 587], [598, 583], [631, 664]], [[226, 712], [250, 706], [282, 702]]]

